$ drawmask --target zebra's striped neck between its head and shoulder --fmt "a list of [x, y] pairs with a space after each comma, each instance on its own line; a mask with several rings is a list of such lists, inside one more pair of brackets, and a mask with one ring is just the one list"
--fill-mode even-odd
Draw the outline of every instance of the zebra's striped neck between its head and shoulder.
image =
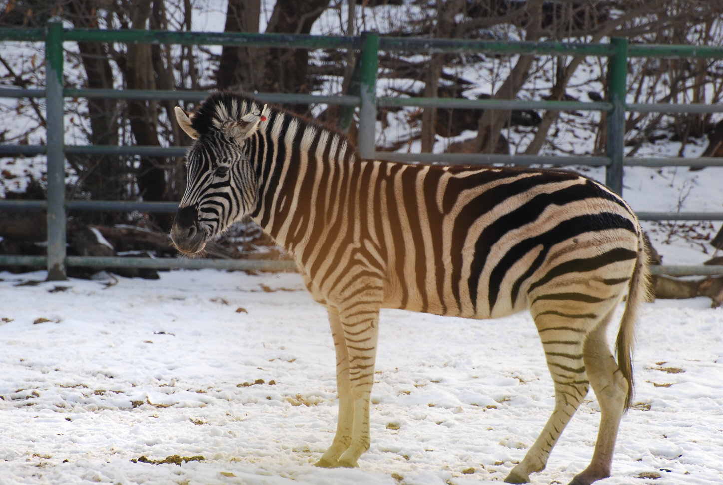
[[[317, 200], [327, 201], [335, 174], [354, 160], [343, 135], [278, 113], [258, 150], [260, 187], [252, 218], [289, 252], [301, 250], [317, 226]], [[318, 226], [317, 226], [318, 228]], [[315, 232], [316, 233], [316, 232]]]

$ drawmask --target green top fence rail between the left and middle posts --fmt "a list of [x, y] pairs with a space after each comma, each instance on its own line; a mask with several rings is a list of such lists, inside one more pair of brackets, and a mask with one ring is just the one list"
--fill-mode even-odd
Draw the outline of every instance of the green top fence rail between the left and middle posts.
[[338, 49], [363, 46], [359, 37], [330, 35], [171, 32], [166, 30], [66, 29], [64, 40], [132, 44], [183, 44], [205, 46], [253, 46], [304, 49]]

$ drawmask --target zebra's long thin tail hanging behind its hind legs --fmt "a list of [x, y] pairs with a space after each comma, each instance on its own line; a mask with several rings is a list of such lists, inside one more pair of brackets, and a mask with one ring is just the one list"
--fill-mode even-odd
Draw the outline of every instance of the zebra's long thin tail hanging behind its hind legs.
[[639, 228], [638, 236], [638, 259], [633, 269], [633, 276], [630, 278], [628, 287], [628, 299], [625, 301], [625, 312], [620, 320], [620, 330], [617, 332], [615, 341], [615, 353], [617, 355], [617, 366], [623, 377], [628, 381], [628, 395], [625, 396], [624, 411], [628, 411], [633, 403], [633, 343], [635, 340], [635, 324], [638, 317], [638, 306], [649, 298], [648, 254], [643, 244], [643, 231]]

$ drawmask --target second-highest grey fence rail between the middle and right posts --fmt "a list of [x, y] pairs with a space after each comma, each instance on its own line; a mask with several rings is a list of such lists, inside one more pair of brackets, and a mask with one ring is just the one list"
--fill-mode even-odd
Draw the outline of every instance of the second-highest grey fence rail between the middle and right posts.
[[377, 98], [379, 106], [419, 106], [453, 109], [544, 109], [549, 111], [610, 111], [612, 103], [579, 103], [576, 101], [523, 101], [506, 99], [458, 98]]

